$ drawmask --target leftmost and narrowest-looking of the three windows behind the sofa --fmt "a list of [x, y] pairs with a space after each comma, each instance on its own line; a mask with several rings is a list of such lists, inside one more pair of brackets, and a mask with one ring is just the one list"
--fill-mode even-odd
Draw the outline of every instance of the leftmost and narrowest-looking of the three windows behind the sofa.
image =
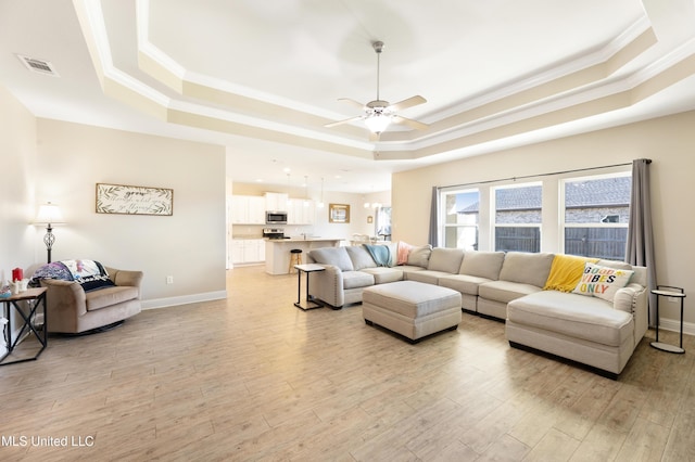
[[443, 191], [440, 196], [443, 207], [444, 247], [478, 249], [478, 217], [480, 193], [478, 190]]

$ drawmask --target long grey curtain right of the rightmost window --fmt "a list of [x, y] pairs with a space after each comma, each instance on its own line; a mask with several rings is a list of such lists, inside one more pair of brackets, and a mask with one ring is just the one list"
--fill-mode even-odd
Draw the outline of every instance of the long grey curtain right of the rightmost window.
[[[648, 158], [632, 162], [632, 195], [630, 197], [630, 221], [626, 261], [647, 267], [649, 291], [656, 288], [656, 264], [654, 261], [654, 233], [652, 230], [652, 201]], [[656, 322], [656, 295], [649, 294], [649, 325]]]

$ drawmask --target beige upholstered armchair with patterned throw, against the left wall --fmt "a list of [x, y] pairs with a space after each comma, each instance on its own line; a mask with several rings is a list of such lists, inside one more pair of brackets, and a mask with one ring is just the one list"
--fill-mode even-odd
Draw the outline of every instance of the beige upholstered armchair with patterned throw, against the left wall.
[[48, 287], [47, 324], [49, 332], [80, 334], [109, 329], [141, 310], [142, 271], [104, 267], [115, 285], [87, 291], [76, 281], [41, 279]]

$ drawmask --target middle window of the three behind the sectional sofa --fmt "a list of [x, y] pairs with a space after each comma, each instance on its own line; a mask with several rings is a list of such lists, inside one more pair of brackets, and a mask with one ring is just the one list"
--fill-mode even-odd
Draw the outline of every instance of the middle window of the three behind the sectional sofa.
[[492, 189], [495, 251], [540, 252], [543, 188], [540, 183]]

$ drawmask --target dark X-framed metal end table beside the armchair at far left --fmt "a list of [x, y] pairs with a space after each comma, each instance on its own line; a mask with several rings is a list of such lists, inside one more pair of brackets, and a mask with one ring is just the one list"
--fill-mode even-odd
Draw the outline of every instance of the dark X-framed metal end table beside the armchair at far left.
[[[26, 292], [20, 292], [18, 294], [12, 295], [8, 298], [0, 298], [0, 303], [3, 304], [4, 307], [4, 317], [8, 319], [8, 324], [5, 325], [5, 335], [4, 339], [8, 346], [8, 352], [0, 358], [0, 365], [12, 364], [15, 362], [24, 362], [24, 361], [33, 361], [39, 357], [41, 351], [48, 345], [48, 319], [46, 313], [46, 292], [48, 288], [46, 287], [37, 287], [29, 288]], [[26, 301], [29, 310], [28, 313], [25, 313], [22, 308], [17, 305], [18, 301]], [[39, 332], [39, 326], [36, 323], [36, 316], [38, 308], [41, 307], [43, 312], [43, 325], [40, 326], [41, 331]], [[17, 313], [22, 319], [22, 326], [20, 329], [20, 333], [15, 338], [12, 338], [12, 318], [13, 313]], [[35, 348], [28, 346], [28, 343], [22, 343], [21, 347], [17, 348], [17, 344], [20, 344], [23, 339], [28, 339], [29, 336], [36, 337], [38, 341], [39, 347], [38, 350], [34, 351]], [[25, 338], [25, 336], [27, 338]], [[20, 354], [20, 349], [25, 355]], [[28, 356], [34, 352], [34, 356]]]

